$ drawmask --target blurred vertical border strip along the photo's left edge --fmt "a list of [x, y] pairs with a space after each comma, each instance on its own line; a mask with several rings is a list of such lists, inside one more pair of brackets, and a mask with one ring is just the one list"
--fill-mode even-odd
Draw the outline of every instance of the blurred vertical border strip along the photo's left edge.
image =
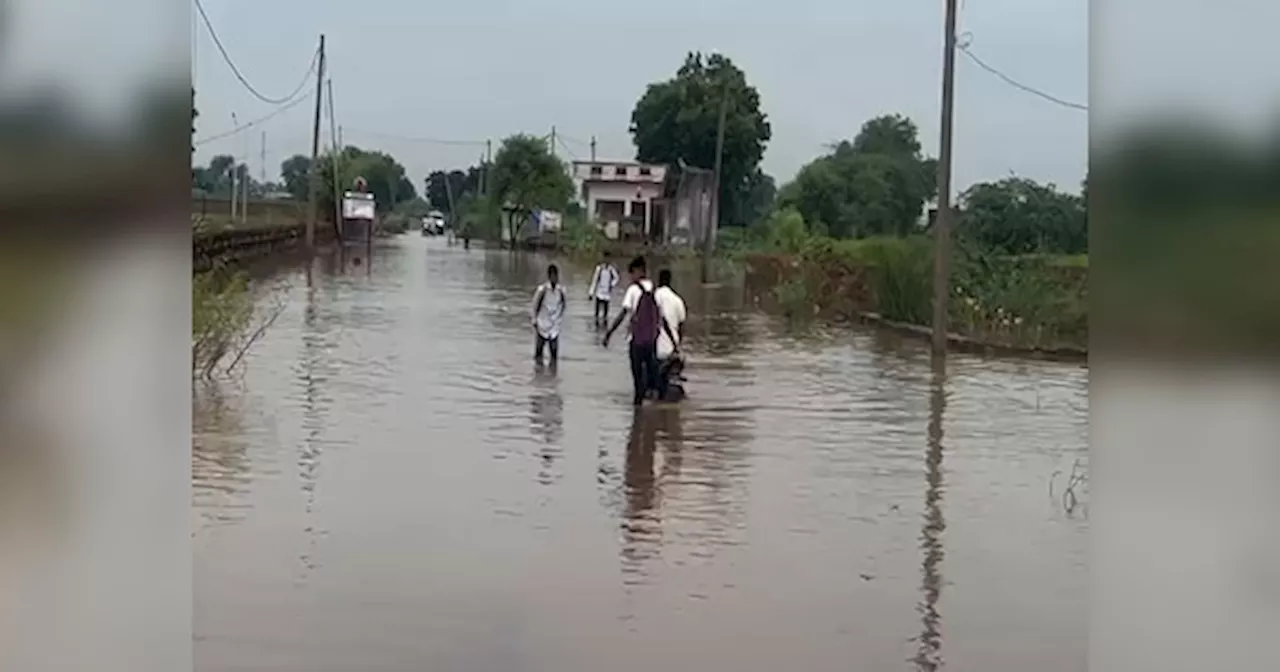
[[0, 669], [192, 667], [189, 20], [0, 3]]

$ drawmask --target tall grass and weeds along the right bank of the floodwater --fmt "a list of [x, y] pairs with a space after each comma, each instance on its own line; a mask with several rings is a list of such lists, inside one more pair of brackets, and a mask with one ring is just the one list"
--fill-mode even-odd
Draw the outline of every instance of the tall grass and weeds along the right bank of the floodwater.
[[[724, 253], [732, 257], [786, 260], [774, 265], [780, 273], [771, 293], [787, 315], [827, 310], [916, 325], [932, 320], [928, 237], [833, 239], [783, 210], [731, 244]], [[1002, 346], [1083, 348], [1087, 270], [1087, 257], [1007, 257], [960, 244], [952, 257], [951, 330]]]

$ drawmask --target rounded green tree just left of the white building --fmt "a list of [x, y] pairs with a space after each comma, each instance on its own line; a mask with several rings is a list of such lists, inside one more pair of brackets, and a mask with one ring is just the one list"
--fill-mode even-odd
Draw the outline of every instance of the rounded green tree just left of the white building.
[[534, 210], [563, 211], [573, 197], [568, 170], [541, 138], [526, 134], [502, 141], [489, 172], [489, 196], [508, 215], [512, 239]]

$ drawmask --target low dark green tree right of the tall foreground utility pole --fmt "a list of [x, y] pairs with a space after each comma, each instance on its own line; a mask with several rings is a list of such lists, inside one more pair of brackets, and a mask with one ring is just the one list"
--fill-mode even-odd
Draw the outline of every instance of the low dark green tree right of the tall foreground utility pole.
[[1088, 251], [1084, 198], [1025, 178], [983, 182], [960, 195], [957, 234], [1007, 255]]

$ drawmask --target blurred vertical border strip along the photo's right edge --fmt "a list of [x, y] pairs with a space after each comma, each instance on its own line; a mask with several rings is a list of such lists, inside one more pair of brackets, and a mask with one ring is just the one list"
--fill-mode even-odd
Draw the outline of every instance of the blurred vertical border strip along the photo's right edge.
[[1091, 3], [1094, 672], [1275, 667], [1280, 4]]

